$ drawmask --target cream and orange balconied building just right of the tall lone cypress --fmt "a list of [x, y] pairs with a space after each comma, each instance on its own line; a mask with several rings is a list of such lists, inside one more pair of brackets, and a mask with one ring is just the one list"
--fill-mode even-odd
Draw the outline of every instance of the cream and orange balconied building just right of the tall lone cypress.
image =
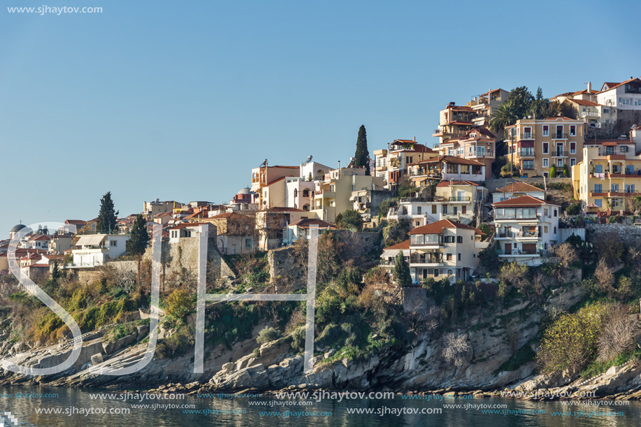
[[437, 152], [414, 140], [397, 139], [390, 143], [387, 150], [375, 150], [374, 171], [372, 175], [382, 178], [386, 189], [396, 191], [408, 184], [408, 165], [416, 161], [431, 159]]

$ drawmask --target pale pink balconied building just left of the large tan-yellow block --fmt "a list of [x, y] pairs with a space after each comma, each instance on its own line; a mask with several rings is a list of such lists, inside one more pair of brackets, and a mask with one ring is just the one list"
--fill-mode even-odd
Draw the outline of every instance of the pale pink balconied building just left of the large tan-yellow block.
[[445, 140], [438, 145], [438, 154], [472, 159], [485, 165], [485, 179], [492, 178], [496, 155], [496, 136], [485, 127], [474, 128], [462, 136]]

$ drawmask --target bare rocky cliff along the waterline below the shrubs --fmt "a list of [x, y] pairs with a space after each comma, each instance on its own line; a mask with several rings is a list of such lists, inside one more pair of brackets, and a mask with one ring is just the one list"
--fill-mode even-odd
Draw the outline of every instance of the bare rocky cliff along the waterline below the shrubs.
[[[580, 289], [566, 290], [550, 298], [547, 303], [565, 309], [581, 298]], [[410, 346], [383, 349], [360, 361], [331, 359], [333, 349], [314, 359], [314, 371], [303, 373], [303, 356], [291, 349], [291, 337], [269, 342], [260, 347], [259, 353], [252, 350], [255, 340], [237, 342], [232, 349], [222, 345], [206, 349], [205, 372], [194, 374], [193, 352], [176, 359], [155, 357], [141, 371], [122, 377], [96, 375], [92, 366], [122, 368], [136, 363], [143, 357], [147, 344], [142, 342], [148, 335], [145, 326], [134, 333], [108, 340], [103, 330], [83, 335], [85, 345], [78, 362], [53, 377], [29, 377], [3, 371], [0, 384], [50, 384], [55, 386], [119, 386], [152, 388], [160, 384], [182, 383], [180, 389], [239, 390], [283, 389], [292, 385], [319, 386], [331, 389], [391, 389], [395, 391], [421, 391], [434, 389], [494, 390], [514, 384], [517, 389], [533, 390], [542, 387], [573, 386], [592, 387], [599, 393], [619, 393], [633, 386], [641, 386], [641, 366], [631, 364], [610, 376], [600, 375], [587, 382], [577, 381], [577, 375], [558, 377], [533, 377], [533, 362], [513, 370], [500, 369], [516, 349], [532, 345], [539, 331], [544, 312], [535, 303], [525, 301], [499, 312], [491, 319], [476, 317], [468, 321], [466, 328], [454, 333], [465, 354], [456, 361], [448, 361], [444, 349], [448, 343], [438, 331], [417, 335]], [[264, 324], [254, 328], [257, 335]], [[166, 335], [170, 331], [160, 331]], [[18, 343], [9, 353], [22, 351]], [[20, 354], [9, 354], [9, 359], [25, 366], [43, 368], [62, 361], [71, 352], [71, 342], [31, 349]], [[100, 354], [100, 358], [95, 358]], [[5, 354], [6, 356], [7, 354]], [[326, 360], [327, 359], [327, 360]], [[636, 384], [636, 385], [635, 385]], [[174, 388], [176, 388], [174, 386]]]

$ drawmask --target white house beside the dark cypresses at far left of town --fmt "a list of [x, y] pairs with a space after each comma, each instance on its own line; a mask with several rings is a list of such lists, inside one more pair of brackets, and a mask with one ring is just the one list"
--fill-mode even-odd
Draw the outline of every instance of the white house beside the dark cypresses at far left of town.
[[75, 243], [71, 268], [103, 266], [106, 261], [116, 259], [127, 252], [129, 235], [89, 234], [80, 236]]

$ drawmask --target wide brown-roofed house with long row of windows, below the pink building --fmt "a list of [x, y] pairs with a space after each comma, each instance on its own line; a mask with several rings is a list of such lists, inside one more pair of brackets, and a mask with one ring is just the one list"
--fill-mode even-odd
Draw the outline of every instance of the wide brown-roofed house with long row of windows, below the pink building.
[[440, 181], [484, 181], [485, 164], [472, 159], [439, 156], [408, 165], [410, 182], [415, 187]]

